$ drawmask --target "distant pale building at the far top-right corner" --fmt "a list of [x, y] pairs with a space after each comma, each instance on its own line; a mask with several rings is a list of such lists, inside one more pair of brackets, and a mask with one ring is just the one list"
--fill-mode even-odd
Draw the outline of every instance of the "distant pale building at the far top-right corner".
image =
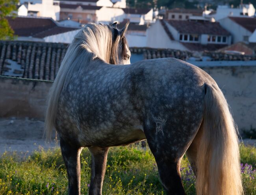
[[212, 15], [216, 21], [226, 18], [227, 16], [254, 16], [255, 8], [252, 4], [240, 4], [234, 8], [229, 5], [218, 5], [216, 13]]

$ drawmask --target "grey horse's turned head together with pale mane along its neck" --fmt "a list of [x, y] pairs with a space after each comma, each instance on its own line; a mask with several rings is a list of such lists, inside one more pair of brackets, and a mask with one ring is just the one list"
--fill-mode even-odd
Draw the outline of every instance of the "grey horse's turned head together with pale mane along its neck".
[[117, 23], [86, 24], [74, 37], [70, 46], [79, 46], [92, 55], [92, 59], [100, 58], [109, 64], [130, 64], [130, 50], [125, 33], [127, 23], [122, 29], [117, 29]]

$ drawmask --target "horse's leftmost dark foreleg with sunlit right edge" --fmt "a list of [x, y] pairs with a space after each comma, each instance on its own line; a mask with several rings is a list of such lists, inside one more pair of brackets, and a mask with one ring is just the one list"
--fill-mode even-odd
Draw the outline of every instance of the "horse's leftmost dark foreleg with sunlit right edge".
[[80, 195], [80, 153], [82, 148], [70, 146], [60, 139], [60, 148], [69, 178], [69, 195]]

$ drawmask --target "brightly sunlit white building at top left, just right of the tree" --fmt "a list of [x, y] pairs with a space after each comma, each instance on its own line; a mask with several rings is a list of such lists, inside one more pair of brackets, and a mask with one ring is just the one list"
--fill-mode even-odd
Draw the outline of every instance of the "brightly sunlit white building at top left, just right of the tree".
[[28, 2], [28, 12], [30, 15], [40, 17], [49, 17], [54, 20], [59, 20], [59, 1], [57, 0], [20, 0], [20, 4]]

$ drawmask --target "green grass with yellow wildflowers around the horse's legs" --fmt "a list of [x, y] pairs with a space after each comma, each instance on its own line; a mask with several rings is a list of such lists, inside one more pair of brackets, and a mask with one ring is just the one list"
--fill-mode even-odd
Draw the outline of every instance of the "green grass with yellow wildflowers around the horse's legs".
[[[240, 146], [245, 195], [256, 195], [256, 148]], [[81, 193], [88, 194], [91, 157], [81, 155]], [[181, 168], [187, 195], [195, 195], [195, 175], [184, 157]], [[4, 153], [0, 157], [0, 195], [65, 195], [67, 174], [60, 149], [35, 151], [31, 156]], [[158, 170], [148, 148], [139, 145], [111, 148], [104, 195], [164, 195]]]

